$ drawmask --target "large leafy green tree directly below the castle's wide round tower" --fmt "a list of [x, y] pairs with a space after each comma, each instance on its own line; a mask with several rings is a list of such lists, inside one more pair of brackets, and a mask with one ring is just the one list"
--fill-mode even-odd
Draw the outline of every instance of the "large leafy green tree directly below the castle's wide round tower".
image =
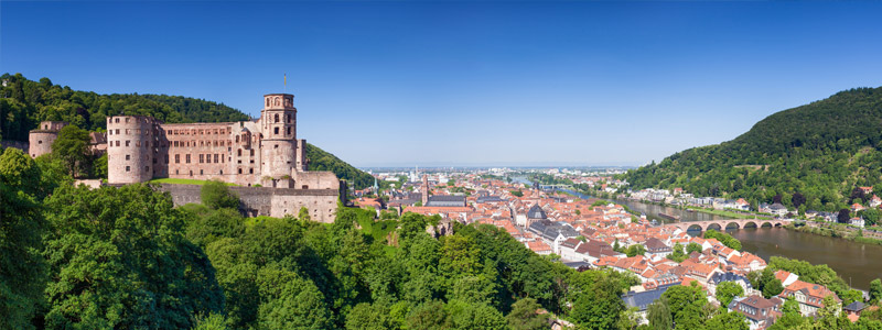
[[45, 205], [46, 328], [190, 328], [223, 311], [215, 268], [168, 194], [63, 185]]

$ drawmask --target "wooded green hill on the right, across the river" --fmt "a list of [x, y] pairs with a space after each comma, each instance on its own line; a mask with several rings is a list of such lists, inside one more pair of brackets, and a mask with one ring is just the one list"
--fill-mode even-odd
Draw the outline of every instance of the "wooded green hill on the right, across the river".
[[857, 88], [774, 113], [732, 141], [676, 153], [622, 178], [638, 189], [681, 187], [754, 204], [781, 195], [793, 206], [799, 193], [807, 209], [836, 210], [851, 201], [856, 186], [882, 189], [881, 151], [882, 87]]

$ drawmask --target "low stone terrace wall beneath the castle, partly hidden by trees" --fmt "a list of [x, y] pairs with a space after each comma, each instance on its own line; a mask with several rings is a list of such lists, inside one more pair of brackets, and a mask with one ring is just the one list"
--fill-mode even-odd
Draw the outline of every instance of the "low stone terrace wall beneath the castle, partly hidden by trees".
[[[196, 185], [159, 185], [160, 190], [172, 196], [175, 206], [201, 204], [202, 186]], [[267, 187], [229, 187], [239, 196], [240, 210], [250, 217], [270, 216], [282, 218], [286, 215], [297, 216], [301, 207], [310, 210], [313, 221], [333, 222], [337, 209], [338, 194], [336, 189], [288, 189]]]

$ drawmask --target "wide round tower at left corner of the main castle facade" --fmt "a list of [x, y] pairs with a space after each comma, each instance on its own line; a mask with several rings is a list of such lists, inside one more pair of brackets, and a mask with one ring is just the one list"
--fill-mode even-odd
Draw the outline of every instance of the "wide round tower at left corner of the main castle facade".
[[155, 120], [143, 116], [107, 118], [107, 183], [136, 184], [153, 178]]

